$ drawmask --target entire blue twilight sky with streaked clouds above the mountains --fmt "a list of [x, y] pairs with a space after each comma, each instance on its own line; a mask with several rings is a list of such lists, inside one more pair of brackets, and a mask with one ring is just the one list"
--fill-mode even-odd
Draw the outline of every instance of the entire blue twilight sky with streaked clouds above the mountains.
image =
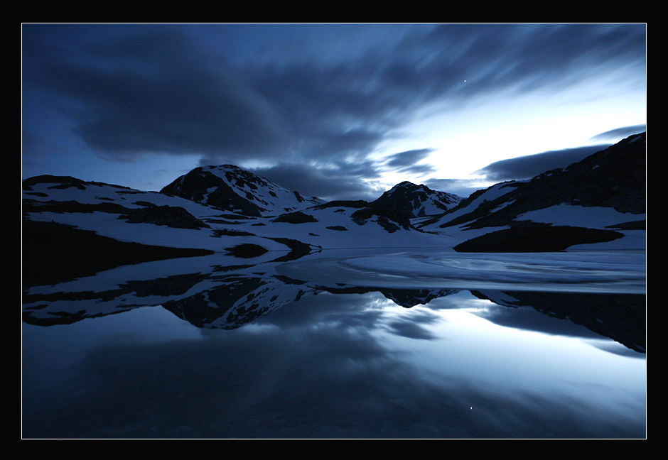
[[461, 197], [647, 124], [645, 23], [23, 23], [21, 175]]

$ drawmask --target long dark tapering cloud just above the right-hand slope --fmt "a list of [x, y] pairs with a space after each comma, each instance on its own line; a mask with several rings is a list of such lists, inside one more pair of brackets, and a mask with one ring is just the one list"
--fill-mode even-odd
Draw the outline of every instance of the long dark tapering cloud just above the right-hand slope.
[[589, 155], [608, 148], [609, 145], [586, 146], [578, 148], [566, 148], [564, 150], [553, 150], [549, 152], [525, 155], [508, 160], [501, 160], [485, 168], [476, 171], [476, 174], [485, 176], [491, 182], [504, 182], [505, 180], [531, 179], [542, 172], [576, 163]]

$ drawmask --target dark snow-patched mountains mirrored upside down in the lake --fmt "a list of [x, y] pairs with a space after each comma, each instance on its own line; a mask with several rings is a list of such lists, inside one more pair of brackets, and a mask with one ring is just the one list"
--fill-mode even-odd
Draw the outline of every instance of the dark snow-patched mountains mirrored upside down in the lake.
[[[50, 326], [161, 305], [177, 317], [203, 329], [236, 329], [266, 314], [319, 292], [367, 294], [379, 292], [410, 308], [459, 292], [457, 289], [375, 288], [309, 283], [276, 273], [276, 255], [267, 261], [205, 256], [119, 267], [57, 285], [29, 288], [23, 294], [23, 320]], [[238, 262], [238, 263], [237, 263]], [[564, 328], [558, 319], [609, 337], [629, 349], [645, 352], [645, 295], [561, 292], [471, 291], [481, 299], [515, 309], [532, 307]], [[504, 315], [506, 321], [511, 316]], [[517, 324], [514, 324], [517, 327]], [[522, 324], [524, 329], [545, 325]]]

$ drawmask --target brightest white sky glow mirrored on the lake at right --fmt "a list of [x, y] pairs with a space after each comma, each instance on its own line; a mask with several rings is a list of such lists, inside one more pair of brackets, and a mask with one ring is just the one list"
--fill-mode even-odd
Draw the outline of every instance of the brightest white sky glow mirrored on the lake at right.
[[[518, 384], [527, 390], [539, 390], [537, 385], [559, 385], [573, 376], [586, 377], [590, 384], [623, 382], [625, 389], [629, 389], [637, 384], [637, 376], [642, 375], [645, 368], [644, 360], [601, 351], [589, 340], [494, 324], [476, 314], [485, 311], [485, 307], [499, 308], [492, 302], [463, 295], [456, 297], [460, 302], [457, 308], [435, 310], [417, 306], [408, 312], [387, 301], [385, 307], [389, 312], [385, 314], [385, 321], [411, 322], [411, 317], [421, 310], [437, 314], [438, 319], [422, 325], [436, 337], [434, 340], [412, 340], [387, 334], [384, 329], [377, 329], [377, 333], [389, 349], [421, 356], [419, 362], [425, 371], [449, 376], [461, 374], [480, 385], [503, 390], [517, 388]], [[432, 302], [446, 301], [451, 300]]]

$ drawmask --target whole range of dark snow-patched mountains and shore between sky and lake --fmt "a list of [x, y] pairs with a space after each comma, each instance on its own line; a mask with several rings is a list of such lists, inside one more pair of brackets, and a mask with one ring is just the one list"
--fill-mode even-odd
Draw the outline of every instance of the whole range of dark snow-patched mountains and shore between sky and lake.
[[344, 248], [642, 249], [645, 155], [640, 133], [567, 168], [467, 199], [402, 182], [374, 202], [323, 202], [232, 165], [195, 168], [161, 192], [31, 177], [22, 184], [24, 282], [215, 253], [282, 263]]

